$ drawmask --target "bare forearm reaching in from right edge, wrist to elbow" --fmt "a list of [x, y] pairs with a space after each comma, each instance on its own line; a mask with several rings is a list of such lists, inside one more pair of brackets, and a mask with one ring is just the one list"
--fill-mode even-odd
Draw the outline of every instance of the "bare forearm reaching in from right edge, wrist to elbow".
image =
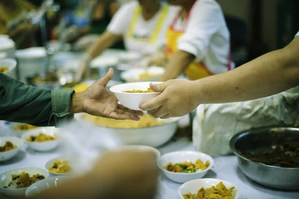
[[199, 103], [254, 100], [299, 85], [299, 59], [288, 48], [263, 55], [224, 74], [197, 81]]

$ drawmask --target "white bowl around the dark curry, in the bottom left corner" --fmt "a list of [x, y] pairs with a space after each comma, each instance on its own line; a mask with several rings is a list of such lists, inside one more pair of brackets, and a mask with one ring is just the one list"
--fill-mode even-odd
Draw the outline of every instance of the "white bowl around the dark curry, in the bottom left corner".
[[[28, 173], [30, 176], [39, 174], [44, 176], [45, 178], [48, 178], [49, 173], [48, 171], [37, 168], [37, 167], [25, 167], [25, 168], [18, 168], [18, 169], [12, 169], [9, 171], [5, 171], [4, 173], [0, 174], [0, 191], [1, 193], [5, 194], [6, 196], [11, 197], [24, 197], [25, 192], [28, 188], [21, 188], [21, 189], [4, 189], [4, 186], [7, 186], [9, 182], [11, 182], [11, 175], [17, 175], [22, 172]], [[43, 180], [41, 180], [43, 181]]]

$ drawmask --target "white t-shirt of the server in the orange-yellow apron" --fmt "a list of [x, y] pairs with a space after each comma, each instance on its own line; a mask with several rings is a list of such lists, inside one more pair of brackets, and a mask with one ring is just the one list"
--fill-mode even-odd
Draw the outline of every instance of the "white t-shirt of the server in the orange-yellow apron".
[[173, 28], [185, 31], [178, 40], [179, 50], [193, 54], [195, 61], [203, 61], [213, 74], [228, 71], [230, 33], [215, 0], [197, 0], [189, 17], [184, 21], [178, 17]]

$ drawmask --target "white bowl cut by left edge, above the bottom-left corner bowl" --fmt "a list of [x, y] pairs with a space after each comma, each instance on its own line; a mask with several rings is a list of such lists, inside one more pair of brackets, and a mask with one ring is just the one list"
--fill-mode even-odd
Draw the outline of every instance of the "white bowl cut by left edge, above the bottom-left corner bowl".
[[20, 147], [24, 144], [23, 140], [18, 137], [5, 136], [0, 137], [0, 146], [4, 146], [6, 141], [10, 141], [13, 145], [16, 146], [16, 148], [5, 152], [0, 152], [0, 162], [13, 158], [19, 151]]

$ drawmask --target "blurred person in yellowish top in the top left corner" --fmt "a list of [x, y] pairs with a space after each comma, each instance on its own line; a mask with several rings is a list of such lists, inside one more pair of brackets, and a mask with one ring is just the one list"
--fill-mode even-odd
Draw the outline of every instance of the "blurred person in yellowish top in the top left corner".
[[27, 0], [0, 0], [0, 34], [9, 35], [16, 48], [34, 45], [34, 33], [38, 30], [28, 19], [28, 12], [35, 6]]

